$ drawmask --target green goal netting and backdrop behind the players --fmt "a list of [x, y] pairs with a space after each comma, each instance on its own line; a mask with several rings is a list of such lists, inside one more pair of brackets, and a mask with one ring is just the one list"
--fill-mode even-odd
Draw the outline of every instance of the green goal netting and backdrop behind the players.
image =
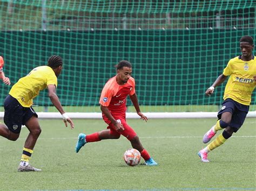
[[[255, 1], [10, 0], [0, 11], [6, 76], [14, 84], [50, 55], [62, 56], [57, 94], [70, 111], [99, 111], [120, 60], [133, 65], [144, 110], [217, 111], [225, 83], [211, 98], [204, 92], [240, 54], [240, 37], [256, 33]], [[0, 86], [3, 104], [11, 87]], [[52, 105], [46, 90], [34, 103]]]

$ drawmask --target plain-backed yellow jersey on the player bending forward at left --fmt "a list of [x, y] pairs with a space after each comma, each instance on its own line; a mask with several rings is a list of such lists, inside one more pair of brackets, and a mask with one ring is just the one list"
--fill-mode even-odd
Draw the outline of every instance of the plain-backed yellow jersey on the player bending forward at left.
[[39, 66], [31, 70], [31, 72], [19, 79], [12, 86], [10, 95], [25, 108], [29, 108], [33, 104], [33, 98], [38, 96], [41, 90], [44, 90], [49, 84], [57, 87], [57, 76], [49, 66]]

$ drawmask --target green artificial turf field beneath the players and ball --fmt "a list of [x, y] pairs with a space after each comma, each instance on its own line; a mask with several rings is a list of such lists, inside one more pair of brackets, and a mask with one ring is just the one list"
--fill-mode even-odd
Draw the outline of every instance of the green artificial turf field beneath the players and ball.
[[30, 164], [42, 172], [17, 172], [26, 128], [16, 142], [0, 137], [0, 189], [256, 189], [255, 118], [247, 118], [233, 137], [212, 151], [208, 163], [201, 162], [197, 153], [205, 146], [201, 140], [215, 119], [150, 119], [147, 123], [127, 119], [158, 162], [152, 167], [125, 164], [123, 153], [131, 146], [123, 137], [89, 143], [75, 153], [78, 133], [93, 133], [106, 125], [102, 119], [73, 122], [71, 130], [61, 119], [40, 120], [42, 133]]

